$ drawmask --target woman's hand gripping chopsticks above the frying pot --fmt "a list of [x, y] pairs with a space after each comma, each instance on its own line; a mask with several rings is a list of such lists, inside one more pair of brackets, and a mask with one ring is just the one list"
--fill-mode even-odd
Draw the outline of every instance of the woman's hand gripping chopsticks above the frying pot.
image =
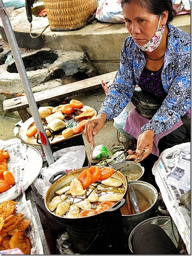
[[107, 116], [105, 114], [98, 114], [95, 118], [87, 121], [84, 134], [88, 142], [92, 142], [92, 137], [97, 135], [101, 128], [103, 128], [106, 120]]

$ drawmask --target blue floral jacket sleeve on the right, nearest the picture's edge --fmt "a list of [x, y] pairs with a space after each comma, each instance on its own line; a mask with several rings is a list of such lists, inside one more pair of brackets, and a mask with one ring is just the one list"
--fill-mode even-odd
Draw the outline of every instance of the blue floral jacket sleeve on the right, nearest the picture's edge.
[[[178, 43], [183, 43], [182, 50]], [[170, 129], [190, 108], [190, 40], [186, 35], [172, 40], [172, 51], [167, 52], [167, 58], [169, 64], [165, 63], [165, 80], [162, 79], [167, 97], [149, 123], [142, 127], [142, 131], [151, 129], [155, 135]]]

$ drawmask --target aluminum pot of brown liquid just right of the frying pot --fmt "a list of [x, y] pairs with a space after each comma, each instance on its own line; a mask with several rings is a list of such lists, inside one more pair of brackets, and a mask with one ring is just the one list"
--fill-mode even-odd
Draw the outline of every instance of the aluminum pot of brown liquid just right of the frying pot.
[[146, 209], [141, 213], [133, 215], [123, 215], [123, 207], [121, 208], [122, 221], [124, 226], [125, 235], [128, 238], [130, 233], [140, 222], [148, 219], [153, 214], [155, 206], [158, 200], [158, 192], [154, 186], [148, 182], [141, 180], [133, 180], [128, 182], [129, 186], [132, 186], [137, 196], [140, 210]]

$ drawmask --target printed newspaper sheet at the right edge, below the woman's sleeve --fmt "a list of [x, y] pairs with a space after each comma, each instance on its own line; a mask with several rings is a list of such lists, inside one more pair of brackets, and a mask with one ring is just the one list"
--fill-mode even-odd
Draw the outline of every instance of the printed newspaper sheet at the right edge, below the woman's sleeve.
[[190, 190], [190, 142], [164, 150], [152, 171], [167, 210], [190, 254], [190, 216], [188, 209], [179, 205], [180, 196]]

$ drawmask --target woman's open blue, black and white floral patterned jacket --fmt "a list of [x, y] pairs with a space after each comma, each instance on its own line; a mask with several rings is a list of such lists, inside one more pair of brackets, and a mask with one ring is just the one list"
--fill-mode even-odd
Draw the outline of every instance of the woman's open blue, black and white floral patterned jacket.
[[[170, 129], [190, 108], [190, 35], [170, 23], [168, 28], [162, 70], [162, 84], [167, 96], [149, 123], [141, 128], [142, 131], [151, 129], [155, 135]], [[119, 69], [98, 114], [107, 115], [108, 121], [121, 113], [132, 98], [145, 63], [144, 54], [132, 37], [125, 38]]]

